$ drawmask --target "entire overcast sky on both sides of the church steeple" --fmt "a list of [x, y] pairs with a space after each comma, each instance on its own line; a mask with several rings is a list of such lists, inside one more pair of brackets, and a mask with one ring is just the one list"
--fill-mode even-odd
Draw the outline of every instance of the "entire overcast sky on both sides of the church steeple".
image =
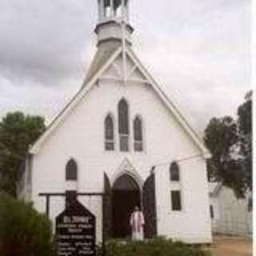
[[[134, 50], [191, 125], [235, 115], [250, 90], [250, 0], [130, 0]], [[96, 51], [96, 0], [0, 0], [0, 118], [47, 123]]]

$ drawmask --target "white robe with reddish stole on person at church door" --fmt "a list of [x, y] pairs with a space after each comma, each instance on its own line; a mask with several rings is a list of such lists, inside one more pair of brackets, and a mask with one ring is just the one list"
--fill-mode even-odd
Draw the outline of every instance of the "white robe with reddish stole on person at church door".
[[144, 238], [144, 215], [141, 211], [134, 211], [130, 216], [131, 238], [134, 241], [142, 241]]

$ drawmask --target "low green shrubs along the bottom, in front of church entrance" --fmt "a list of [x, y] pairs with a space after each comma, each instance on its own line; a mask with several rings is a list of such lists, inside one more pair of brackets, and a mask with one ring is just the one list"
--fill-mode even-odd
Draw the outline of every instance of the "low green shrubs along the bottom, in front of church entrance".
[[109, 242], [107, 256], [206, 256], [200, 246], [190, 246], [165, 238], [149, 242]]

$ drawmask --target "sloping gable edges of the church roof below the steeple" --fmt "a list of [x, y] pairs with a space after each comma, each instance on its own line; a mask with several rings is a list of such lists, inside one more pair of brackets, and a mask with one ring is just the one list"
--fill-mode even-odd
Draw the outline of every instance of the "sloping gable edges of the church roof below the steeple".
[[[41, 138], [39, 138], [37, 142], [34, 143], [34, 146], [30, 148], [31, 154], [38, 153], [42, 143], [46, 141], [46, 138], [48, 138], [52, 131], [55, 130], [62, 122], [64, 122], [66, 116], [68, 116], [72, 110], [74, 110], [74, 107], [77, 106], [78, 102], [80, 102], [82, 98], [86, 96], [86, 93], [92, 88], [92, 86], [95, 85], [95, 83], [97, 83], [98, 79], [101, 78], [102, 74], [104, 74], [108, 67], [114, 63], [114, 60], [118, 58], [120, 54], [122, 54], [122, 46], [111, 48], [111, 50], [98, 50], [98, 53], [95, 55], [94, 61], [90, 66], [90, 70], [86, 76], [86, 80], [81, 90], [79, 90], [74, 98], [71, 99], [71, 101], [66, 105], [62, 112], [58, 114], [57, 118], [55, 118], [54, 121], [50, 124], [46, 132], [42, 134]], [[164, 102], [170, 112], [174, 114], [174, 117], [181, 124], [190, 138], [194, 141], [196, 146], [198, 146], [199, 150], [202, 152], [202, 156], [205, 158], [210, 157], [208, 150], [206, 150], [206, 147], [198, 137], [198, 134], [195, 133], [189, 123], [186, 122], [186, 119], [179, 112], [178, 108], [174, 106], [174, 103], [170, 101], [170, 99], [158, 86], [157, 82], [154, 81], [154, 78], [152, 78], [150, 73], [139, 61], [138, 57], [134, 54], [134, 51], [130, 47], [127, 47], [126, 54], [134, 62], [134, 65], [136, 65], [142, 75], [146, 78], [148, 84], [153, 87], [154, 91], [162, 99], [162, 102]]]

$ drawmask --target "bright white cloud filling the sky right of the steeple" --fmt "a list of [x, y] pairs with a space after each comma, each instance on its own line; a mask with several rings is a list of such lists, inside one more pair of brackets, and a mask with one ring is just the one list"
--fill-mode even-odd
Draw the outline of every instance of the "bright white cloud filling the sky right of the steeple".
[[[202, 134], [211, 117], [235, 115], [250, 90], [250, 2], [170, 2], [152, 10], [162, 17], [143, 31], [138, 52]], [[169, 26], [160, 26], [167, 12]]]

